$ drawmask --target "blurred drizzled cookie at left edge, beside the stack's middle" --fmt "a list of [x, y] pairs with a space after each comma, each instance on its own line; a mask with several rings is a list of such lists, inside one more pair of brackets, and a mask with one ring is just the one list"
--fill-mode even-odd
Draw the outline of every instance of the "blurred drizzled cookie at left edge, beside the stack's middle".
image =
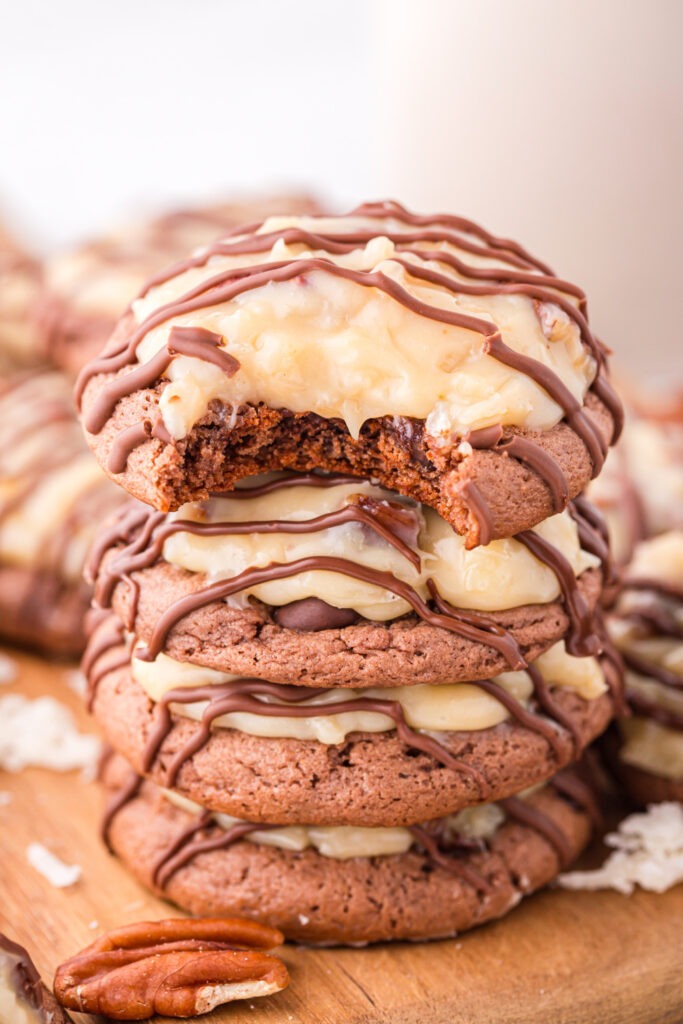
[[58, 373], [0, 380], [0, 635], [75, 656], [91, 598], [83, 563], [122, 498], [83, 444]]

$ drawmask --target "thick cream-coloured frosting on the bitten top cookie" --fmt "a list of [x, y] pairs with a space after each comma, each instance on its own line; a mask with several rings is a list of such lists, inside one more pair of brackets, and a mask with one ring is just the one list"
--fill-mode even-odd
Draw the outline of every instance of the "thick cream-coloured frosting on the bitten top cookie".
[[[370, 231], [374, 237], [343, 254], [281, 239], [263, 253], [212, 256], [205, 266], [172, 278], [133, 303], [135, 319], [141, 324], [161, 306], [178, 301], [222, 271], [319, 257], [328, 264], [382, 273], [423, 303], [497, 326], [511, 348], [552, 369], [583, 400], [595, 376], [595, 361], [584, 348], [573, 318], [554, 302], [537, 309], [525, 295], [466, 295], [416, 278], [398, 258], [441, 273], [452, 285], [464, 280], [438, 259], [397, 248], [387, 234], [414, 228], [391, 218], [272, 217], [259, 233], [289, 226], [318, 234]], [[438, 250], [470, 266], [490, 266], [493, 280], [495, 268], [510, 268], [504, 250], [492, 259], [457, 243], [455, 239], [408, 248], [423, 253]], [[376, 287], [323, 269], [289, 282], [269, 282], [231, 301], [172, 317], [143, 338], [137, 348], [139, 361], [146, 362], [166, 345], [173, 326], [201, 327], [221, 335], [240, 362], [228, 379], [208, 362], [186, 356], [173, 360], [161, 411], [176, 438], [189, 431], [214, 398], [227, 404], [265, 402], [274, 409], [340, 418], [353, 436], [372, 418], [416, 417], [426, 420], [428, 432], [445, 442], [454, 434], [496, 423], [545, 430], [563, 415], [532, 380], [485, 354], [481, 334], [431, 319]]]

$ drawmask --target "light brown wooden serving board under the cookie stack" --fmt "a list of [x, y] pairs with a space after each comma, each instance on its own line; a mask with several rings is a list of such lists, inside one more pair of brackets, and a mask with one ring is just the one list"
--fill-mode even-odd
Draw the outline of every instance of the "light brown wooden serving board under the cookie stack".
[[[11, 653], [17, 680], [1, 693], [51, 693], [94, 731], [67, 686], [69, 670]], [[100, 930], [177, 915], [150, 896], [101, 846], [100, 796], [79, 773], [0, 771], [0, 930], [56, 965]], [[38, 841], [83, 869], [57, 890], [27, 862]], [[504, 921], [458, 939], [367, 949], [283, 950], [288, 990], [233, 1004], [205, 1024], [680, 1024], [683, 886], [664, 895], [546, 891]], [[79, 1021], [94, 1018], [78, 1017]], [[168, 1021], [168, 1018], [156, 1018]]]

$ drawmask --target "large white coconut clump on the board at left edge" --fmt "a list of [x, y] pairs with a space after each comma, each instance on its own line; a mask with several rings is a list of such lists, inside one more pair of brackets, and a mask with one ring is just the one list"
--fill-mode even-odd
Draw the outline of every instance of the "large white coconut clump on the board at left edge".
[[19, 693], [0, 697], [0, 768], [28, 766], [94, 774], [99, 740], [76, 728], [68, 708], [54, 697], [29, 700]]

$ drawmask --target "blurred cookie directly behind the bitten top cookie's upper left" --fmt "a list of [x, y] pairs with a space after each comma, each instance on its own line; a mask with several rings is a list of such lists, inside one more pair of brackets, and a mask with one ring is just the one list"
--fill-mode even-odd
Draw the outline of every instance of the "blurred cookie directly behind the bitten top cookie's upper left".
[[266, 196], [176, 210], [57, 254], [46, 264], [36, 310], [43, 350], [67, 373], [77, 374], [99, 354], [119, 316], [153, 273], [273, 210], [317, 209], [305, 196]]

